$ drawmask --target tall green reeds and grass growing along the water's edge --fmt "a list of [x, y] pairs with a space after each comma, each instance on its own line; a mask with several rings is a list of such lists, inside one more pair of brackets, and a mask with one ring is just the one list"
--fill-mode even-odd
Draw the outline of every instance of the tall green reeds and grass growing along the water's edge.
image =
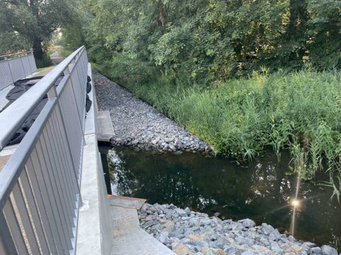
[[[249, 79], [188, 85], [185, 78], [148, 74], [120, 78], [136, 96], [200, 136], [216, 154], [239, 160], [265, 147], [288, 149], [294, 171], [305, 179], [315, 171], [330, 174], [335, 196], [341, 183], [341, 75], [337, 71], [254, 74]], [[334, 180], [334, 182], [332, 181]], [[335, 181], [339, 180], [339, 181]]]

